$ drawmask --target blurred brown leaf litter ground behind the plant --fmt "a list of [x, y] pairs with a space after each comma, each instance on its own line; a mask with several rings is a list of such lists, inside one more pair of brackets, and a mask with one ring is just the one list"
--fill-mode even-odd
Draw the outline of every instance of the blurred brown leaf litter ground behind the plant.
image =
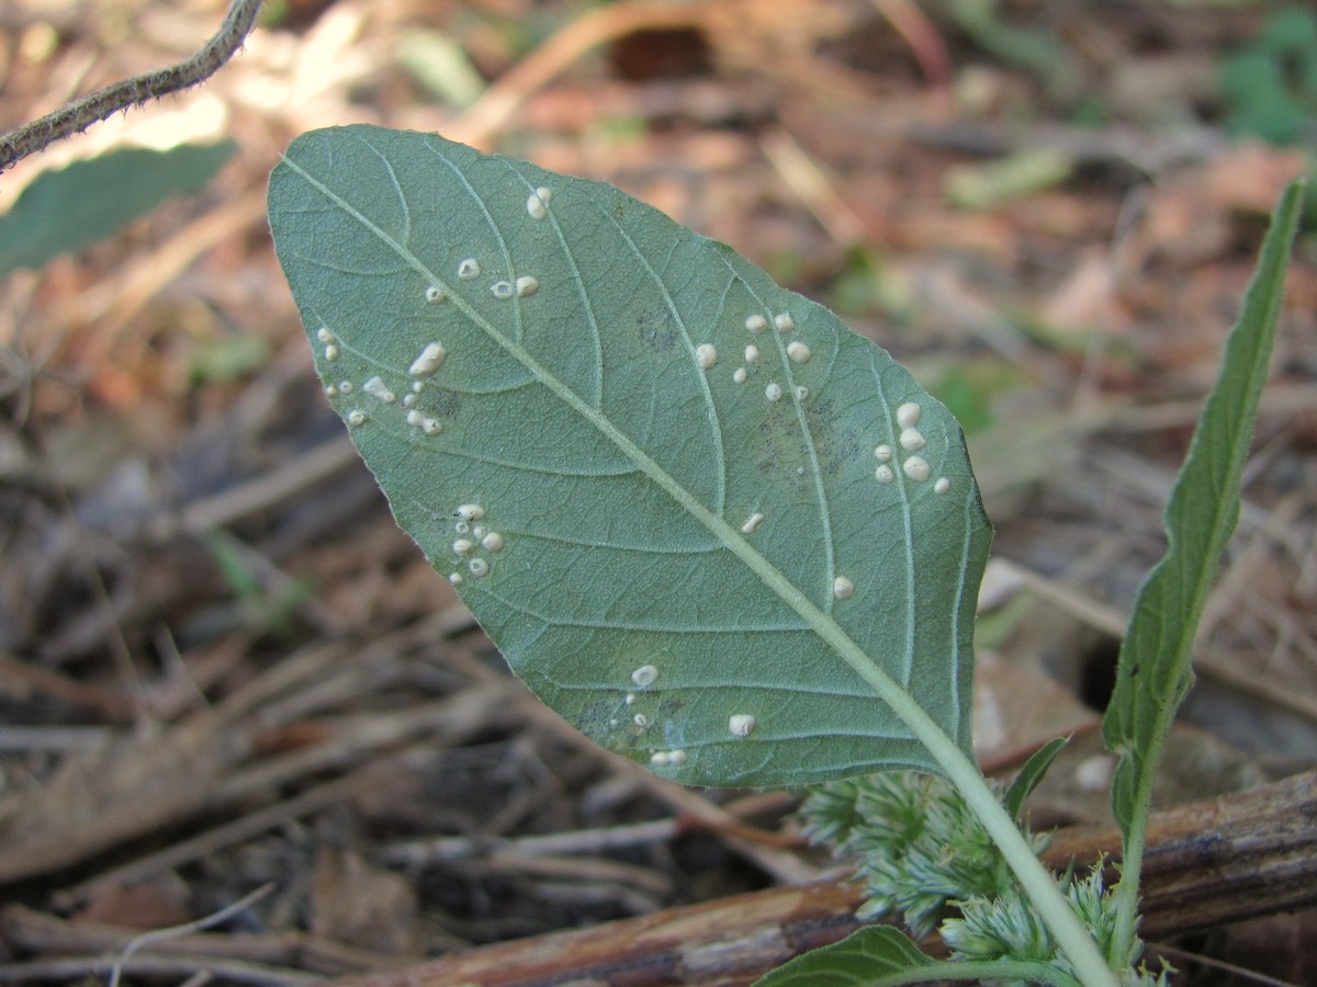
[[[9, 0], [0, 129], [224, 7]], [[379, 970], [832, 866], [793, 796], [680, 790], [540, 708], [394, 526], [263, 212], [292, 137], [361, 121], [612, 182], [910, 366], [997, 529], [979, 754], [1075, 732], [1035, 824], [1106, 819], [1119, 634], [1317, 155], [1310, 4], [273, 0], [208, 83], [0, 175], [0, 980], [84, 982], [267, 883], [138, 982]], [[1314, 221], [1167, 804], [1317, 762]], [[1314, 933], [1180, 945], [1314, 982]]]

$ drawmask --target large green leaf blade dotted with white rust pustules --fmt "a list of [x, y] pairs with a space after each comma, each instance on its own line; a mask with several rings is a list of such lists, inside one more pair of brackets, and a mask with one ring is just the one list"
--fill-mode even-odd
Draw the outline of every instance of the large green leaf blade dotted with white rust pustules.
[[610, 186], [436, 136], [298, 138], [270, 222], [399, 522], [585, 734], [691, 784], [968, 754], [990, 529], [886, 353]]

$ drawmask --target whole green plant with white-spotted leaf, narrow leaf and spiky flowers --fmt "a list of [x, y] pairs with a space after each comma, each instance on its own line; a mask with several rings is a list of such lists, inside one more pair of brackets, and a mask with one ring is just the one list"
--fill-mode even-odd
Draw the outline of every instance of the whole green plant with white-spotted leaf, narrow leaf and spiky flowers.
[[[541, 699], [691, 784], [818, 784], [864, 929], [764, 983], [1156, 982], [1135, 969], [1152, 778], [1238, 513], [1301, 187], [1291, 187], [1167, 511], [1104, 722], [1115, 888], [1038, 862], [968, 734], [988, 555], [960, 428], [886, 353], [730, 247], [599, 183], [437, 136], [306, 134], [275, 249], [399, 522]], [[959, 917], [947, 917], [948, 905]], [[843, 978], [830, 980], [828, 978]]]

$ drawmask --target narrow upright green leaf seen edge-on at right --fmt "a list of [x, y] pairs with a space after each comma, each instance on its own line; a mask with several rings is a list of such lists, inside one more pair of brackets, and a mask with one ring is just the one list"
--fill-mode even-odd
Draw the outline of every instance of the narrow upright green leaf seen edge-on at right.
[[1112, 808], [1129, 837], [1146, 819], [1152, 775], [1180, 703], [1193, 684], [1193, 637], [1221, 553], [1239, 517], [1239, 483], [1267, 380], [1303, 183], [1280, 200], [1262, 245], [1221, 372], [1166, 508], [1167, 550], [1139, 587], [1121, 647], [1102, 740], [1119, 754]]

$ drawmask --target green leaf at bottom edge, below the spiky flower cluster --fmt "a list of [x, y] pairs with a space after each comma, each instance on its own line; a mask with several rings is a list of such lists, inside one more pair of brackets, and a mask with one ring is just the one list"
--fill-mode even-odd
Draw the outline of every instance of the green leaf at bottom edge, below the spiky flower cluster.
[[897, 987], [902, 983], [975, 980], [1075, 984], [1051, 963], [936, 961], [890, 925], [867, 925], [755, 980], [755, 987]]

